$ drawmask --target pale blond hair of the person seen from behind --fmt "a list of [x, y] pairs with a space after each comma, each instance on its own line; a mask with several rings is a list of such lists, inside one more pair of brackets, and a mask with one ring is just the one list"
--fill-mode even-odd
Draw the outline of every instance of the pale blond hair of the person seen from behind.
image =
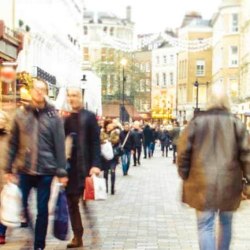
[[226, 109], [230, 111], [231, 104], [225, 86], [222, 84], [213, 84], [209, 95], [209, 101], [207, 105], [208, 109]]

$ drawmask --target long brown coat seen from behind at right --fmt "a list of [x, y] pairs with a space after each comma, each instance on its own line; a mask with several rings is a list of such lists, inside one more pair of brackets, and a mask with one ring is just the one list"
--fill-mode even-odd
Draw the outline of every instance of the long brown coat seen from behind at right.
[[198, 115], [181, 134], [177, 155], [183, 202], [200, 211], [239, 207], [242, 176], [250, 180], [249, 135], [239, 119], [222, 109]]

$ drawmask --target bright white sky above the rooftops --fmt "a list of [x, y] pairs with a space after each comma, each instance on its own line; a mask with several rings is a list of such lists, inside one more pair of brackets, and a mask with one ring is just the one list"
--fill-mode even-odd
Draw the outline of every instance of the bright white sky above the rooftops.
[[125, 17], [126, 6], [132, 7], [136, 33], [160, 32], [177, 28], [188, 11], [198, 11], [210, 19], [221, 0], [84, 0], [88, 10], [108, 11]]

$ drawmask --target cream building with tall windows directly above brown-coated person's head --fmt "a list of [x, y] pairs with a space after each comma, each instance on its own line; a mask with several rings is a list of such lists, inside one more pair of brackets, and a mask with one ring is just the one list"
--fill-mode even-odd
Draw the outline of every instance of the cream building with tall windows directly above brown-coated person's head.
[[246, 93], [240, 79], [240, 0], [223, 0], [212, 20], [213, 84], [223, 84], [234, 104]]

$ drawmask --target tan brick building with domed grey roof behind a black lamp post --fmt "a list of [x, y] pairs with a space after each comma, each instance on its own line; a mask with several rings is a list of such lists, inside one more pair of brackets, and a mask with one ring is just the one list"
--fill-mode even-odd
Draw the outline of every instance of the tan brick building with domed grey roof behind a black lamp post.
[[[196, 44], [212, 38], [209, 20], [198, 13], [188, 13], [179, 29], [180, 41]], [[194, 47], [195, 47], [194, 46]], [[190, 46], [189, 46], [190, 47]], [[191, 50], [179, 47], [177, 54], [177, 119], [191, 119], [195, 109], [205, 109], [212, 80], [212, 48]]]

